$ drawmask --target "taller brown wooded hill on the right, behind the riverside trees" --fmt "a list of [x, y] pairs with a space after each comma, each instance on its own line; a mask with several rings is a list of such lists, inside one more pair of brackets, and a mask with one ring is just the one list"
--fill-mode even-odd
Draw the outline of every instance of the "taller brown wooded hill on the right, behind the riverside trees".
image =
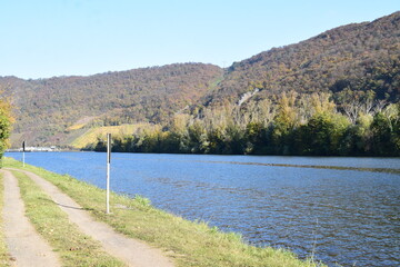
[[399, 69], [400, 12], [396, 12], [234, 62], [218, 90], [203, 102], [237, 101], [256, 89], [260, 90], [258, 98], [290, 90], [373, 90], [379, 99], [396, 101], [400, 96]]

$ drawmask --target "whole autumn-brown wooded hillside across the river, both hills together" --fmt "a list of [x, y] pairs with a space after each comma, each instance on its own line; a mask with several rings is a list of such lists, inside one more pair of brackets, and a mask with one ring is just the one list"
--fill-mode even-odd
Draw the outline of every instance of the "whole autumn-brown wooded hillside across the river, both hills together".
[[177, 63], [89, 77], [0, 77], [0, 89], [13, 96], [14, 146], [71, 145], [96, 127], [166, 125], [182, 111], [276, 102], [288, 91], [333, 93], [339, 109], [371, 92], [376, 100], [398, 102], [400, 12], [273, 48], [227, 69]]

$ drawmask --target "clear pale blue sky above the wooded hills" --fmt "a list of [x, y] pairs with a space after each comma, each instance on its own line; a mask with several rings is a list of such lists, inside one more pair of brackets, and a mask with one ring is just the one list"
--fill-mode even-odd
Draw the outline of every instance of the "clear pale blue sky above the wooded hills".
[[0, 0], [0, 76], [229, 67], [399, 10], [399, 0]]

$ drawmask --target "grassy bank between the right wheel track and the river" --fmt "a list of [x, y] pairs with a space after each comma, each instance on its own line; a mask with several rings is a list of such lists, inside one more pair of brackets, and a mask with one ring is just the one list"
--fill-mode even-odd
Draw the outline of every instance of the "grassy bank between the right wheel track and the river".
[[[7, 158], [4, 167], [21, 168], [21, 162]], [[237, 234], [221, 233], [207, 224], [184, 220], [153, 208], [149, 200], [141, 197], [131, 199], [111, 194], [112, 214], [106, 215], [103, 190], [70, 176], [57, 175], [33, 166], [27, 165], [24, 169], [58, 186], [88, 209], [94, 218], [109, 224], [117, 231], [163, 249], [167, 255], [176, 259], [178, 266], [318, 265], [312, 260], [301, 261], [288, 250], [246, 245]], [[24, 194], [31, 190], [31, 185], [22, 186], [29, 188]], [[49, 214], [47, 216], [53, 216], [56, 211], [46, 212]]]

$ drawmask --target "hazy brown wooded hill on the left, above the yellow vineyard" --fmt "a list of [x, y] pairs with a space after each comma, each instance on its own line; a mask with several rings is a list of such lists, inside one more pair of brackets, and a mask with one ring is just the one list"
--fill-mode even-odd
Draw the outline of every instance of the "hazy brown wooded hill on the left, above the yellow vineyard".
[[177, 63], [89, 77], [4, 77], [0, 88], [13, 96], [13, 144], [60, 145], [74, 125], [159, 123], [197, 102], [221, 76], [217, 66]]

